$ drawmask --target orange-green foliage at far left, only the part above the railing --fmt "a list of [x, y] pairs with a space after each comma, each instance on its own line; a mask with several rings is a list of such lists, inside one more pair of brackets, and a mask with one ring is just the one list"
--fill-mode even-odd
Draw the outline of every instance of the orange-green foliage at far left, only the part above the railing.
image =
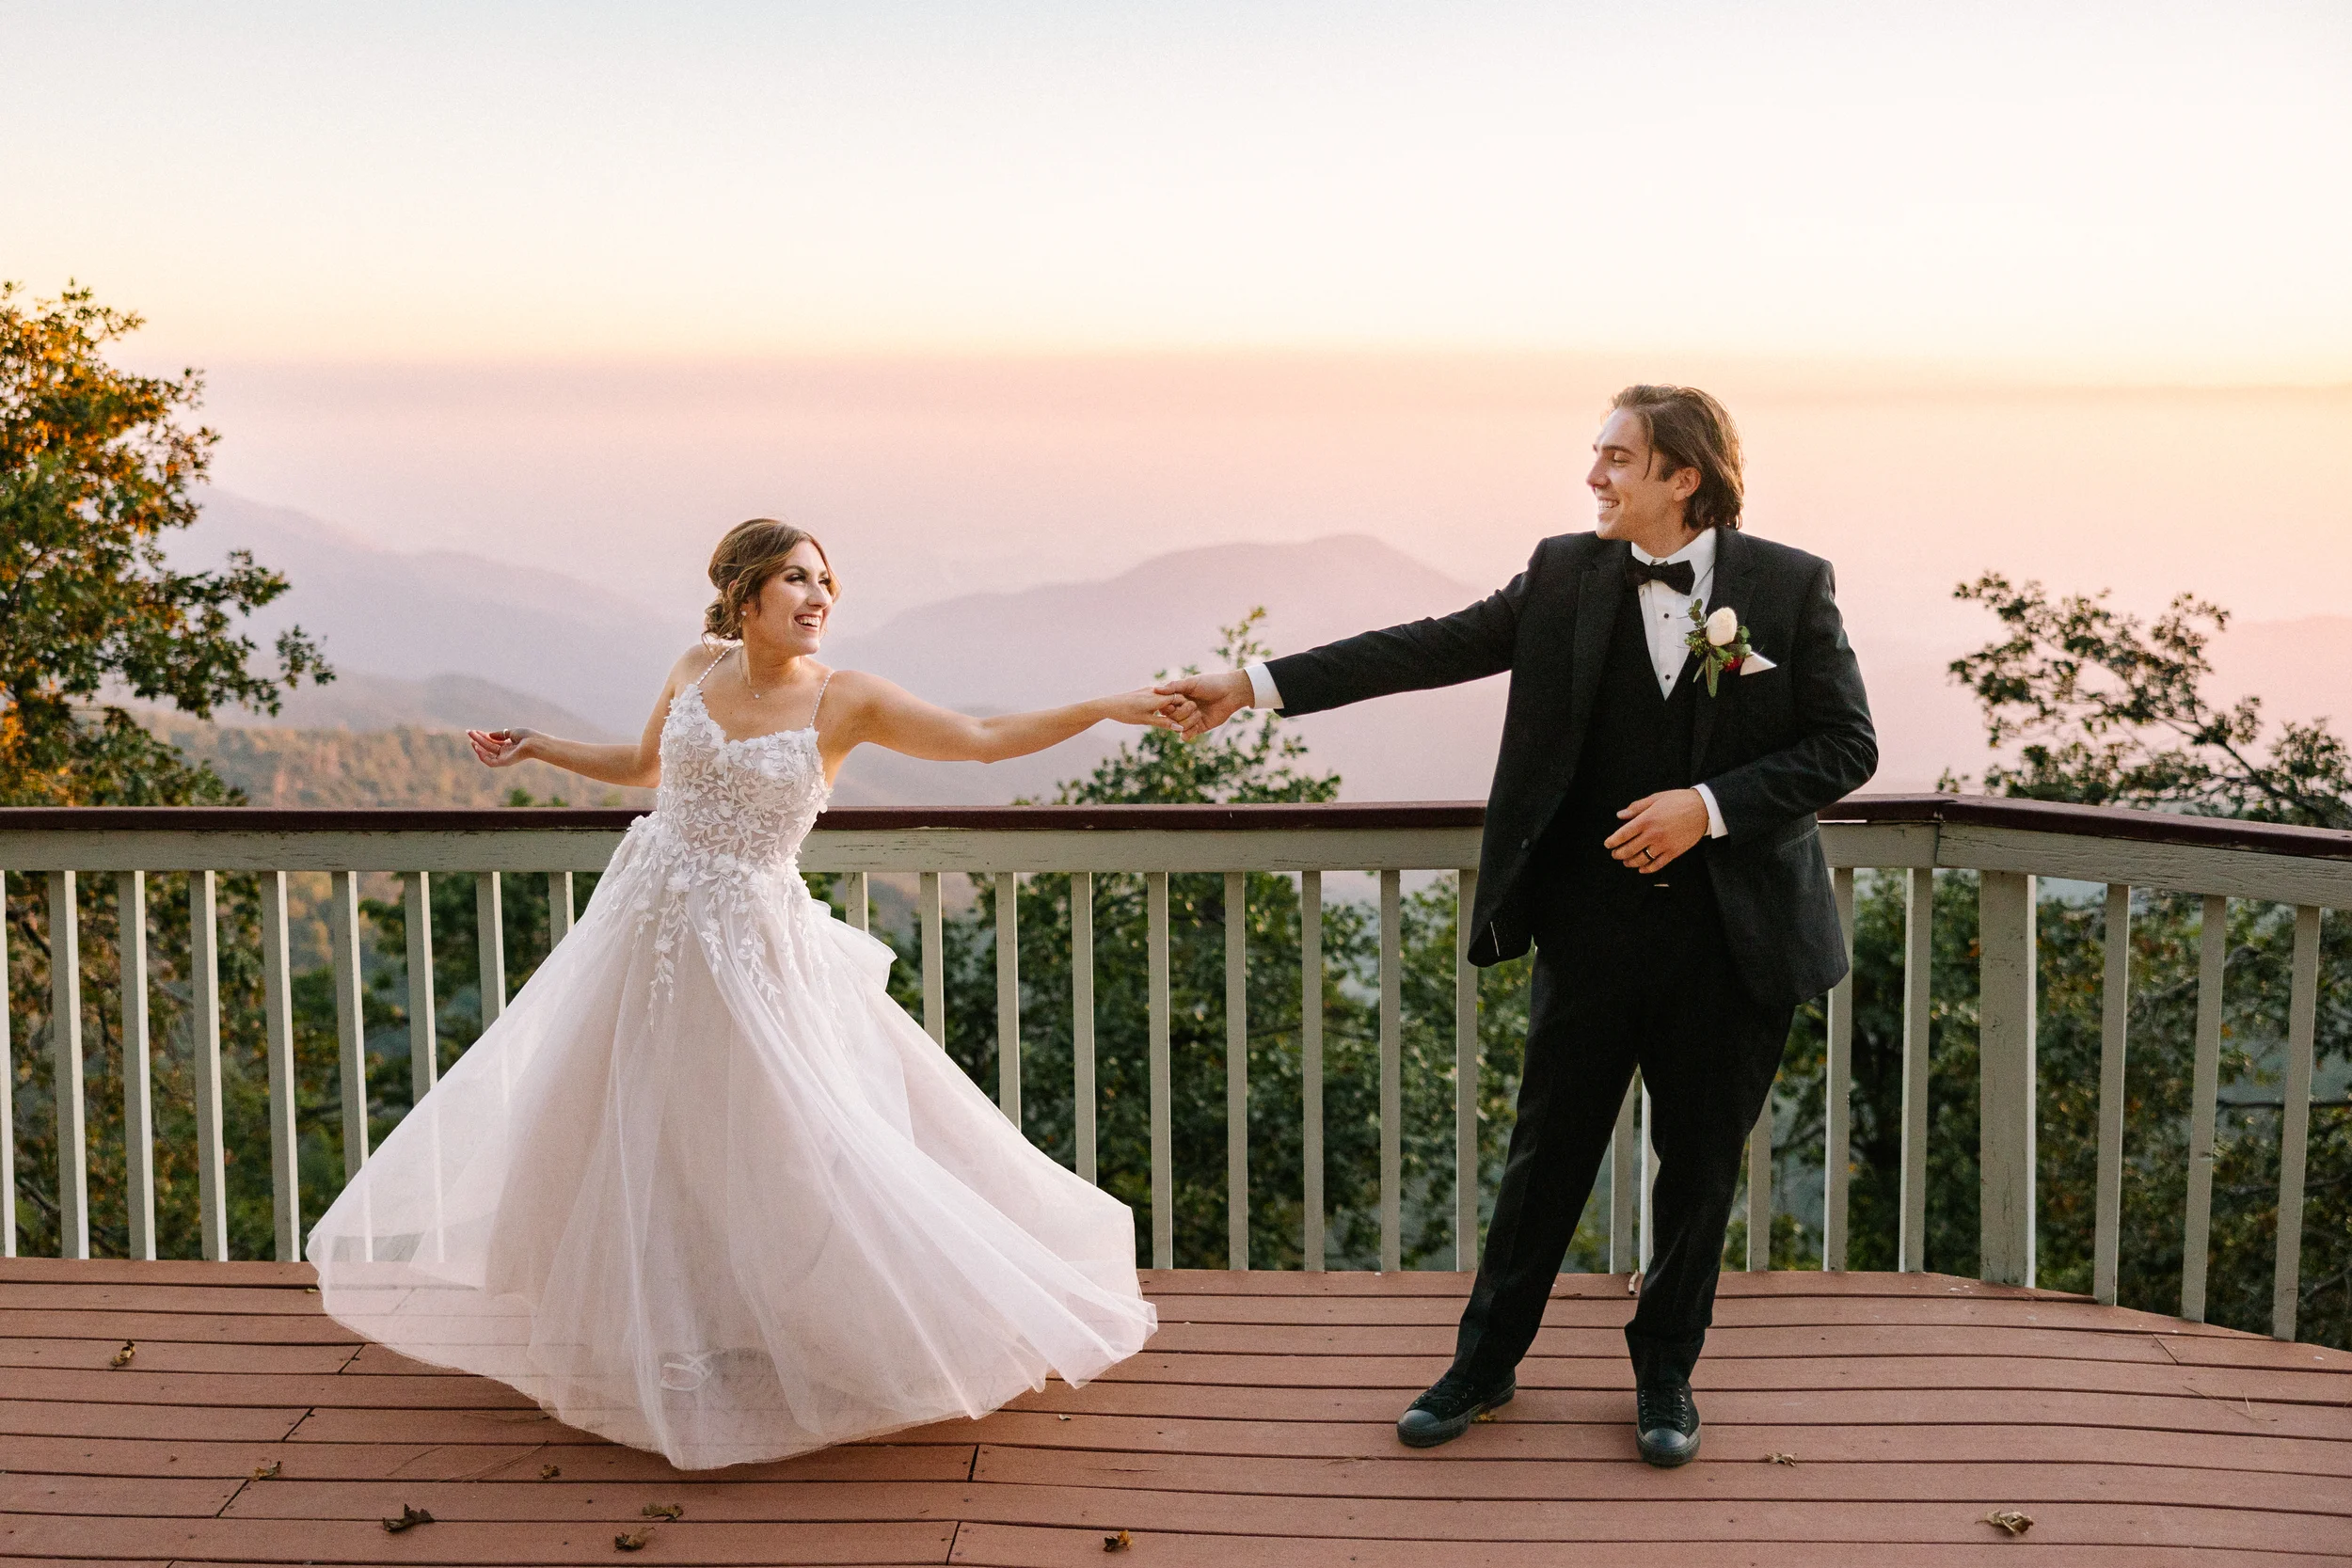
[[0, 804], [172, 806], [228, 790], [141, 729], [113, 691], [195, 717], [226, 703], [278, 710], [303, 675], [329, 679], [287, 630], [278, 675], [233, 630], [287, 590], [235, 552], [223, 571], [176, 571], [162, 536], [195, 522], [214, 433], [176, 423], [202, 381], [132, 376], [106, 348], [139, 317], [87, 289], [19, 303], [0, 284]]

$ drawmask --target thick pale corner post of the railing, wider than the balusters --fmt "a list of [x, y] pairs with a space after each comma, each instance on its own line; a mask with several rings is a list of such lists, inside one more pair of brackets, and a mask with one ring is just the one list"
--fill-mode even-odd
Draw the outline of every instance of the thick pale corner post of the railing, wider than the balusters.
[[2034, 1284], [2034, 877], [1980, 872], [1978, 1274]]

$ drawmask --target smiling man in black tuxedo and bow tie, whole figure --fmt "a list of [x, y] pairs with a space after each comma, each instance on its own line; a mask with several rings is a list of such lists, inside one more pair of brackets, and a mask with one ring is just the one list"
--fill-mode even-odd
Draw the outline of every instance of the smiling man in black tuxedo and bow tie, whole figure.
[[1879, 752], [1830, 564], [1738, 531], [1722, 404], [1630, 386], [1592, 451], [1599, 527], [1545, 538], [1501, 592], [1162, 691], [1202, 733], [1510, 670], [1470, 961], [1536, 945], [1519, 1119], [1454, 1366], [1397, 1436], [1444, 1443], [1517, 1392], [1639, 1067], [1658, 1180], [1625, 1326], [1635, 1434], [1682, 1465], [1748, 1131], [1797, 1004], [1846, 973], [1813, 811]]

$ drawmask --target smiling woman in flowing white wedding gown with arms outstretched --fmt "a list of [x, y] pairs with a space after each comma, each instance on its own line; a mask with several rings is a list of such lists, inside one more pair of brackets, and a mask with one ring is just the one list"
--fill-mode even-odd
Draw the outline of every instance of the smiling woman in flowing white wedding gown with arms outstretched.
[[783, 522], [710, 581], [637, 743], [473, 731], [656, 804], [308, 1244], [336, 1321], [684, 1469], [983, 1415], [1150, 1338], [1129, 1208], [889, 999], [797, 853], [858, 745], [995, 762], [1185, 717], [1143, 689], [974, 719], [828, 670], [833, 569]]

